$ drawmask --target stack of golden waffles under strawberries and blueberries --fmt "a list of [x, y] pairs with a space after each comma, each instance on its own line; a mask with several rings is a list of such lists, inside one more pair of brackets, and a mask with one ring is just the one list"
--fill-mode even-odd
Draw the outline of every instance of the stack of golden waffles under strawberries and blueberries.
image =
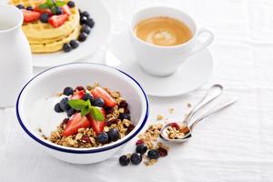
[[[67, 2], [68, 0], [64, 0]], [[11, 5], [24, 5], [35, 7], [45, 0], [9, 0]], [[24, 23], [22, 29], [28, 39], [33, 53], [54, 53], [60, 51], [63, 45], [72, 39], [77, 39], [80, 30], [80, 15], [76, 7], [70, 9], [72, 15], [64, 25], [53, 27], [41, 21]]]

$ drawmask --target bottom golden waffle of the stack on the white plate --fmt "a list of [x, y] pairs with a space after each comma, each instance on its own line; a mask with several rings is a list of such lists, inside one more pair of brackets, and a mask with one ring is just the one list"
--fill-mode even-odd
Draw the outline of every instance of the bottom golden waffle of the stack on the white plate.
[[80, 27], [80, 25], [77, 26], [70, 35], [67, 35], [62, 39], [46, 44], [30, 44], [31, 51], [35, 54], [54, 53], [60, 51], [65, 43], [68, 43], [70, 40], [77, 39], [78, 35], [80, 34]]

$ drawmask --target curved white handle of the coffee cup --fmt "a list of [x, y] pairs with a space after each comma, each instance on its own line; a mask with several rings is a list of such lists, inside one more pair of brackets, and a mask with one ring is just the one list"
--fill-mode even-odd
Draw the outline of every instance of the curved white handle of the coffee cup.
[[206, 48], [208, 45], [210, 45], [212, 43], [212, 41], [214, 39], [214, 35], [210, 30], [207, 30], [207, 28], [204, 28], [204, 27], [199, 28], [199, 30], [197, 32], [197, 39], [202, 34], [207, 35], [206, 40], [197, 42], [197, 45], [189, 53], [189, 56], [196, 54], [197, 52], [203, 50], [204, 48]]

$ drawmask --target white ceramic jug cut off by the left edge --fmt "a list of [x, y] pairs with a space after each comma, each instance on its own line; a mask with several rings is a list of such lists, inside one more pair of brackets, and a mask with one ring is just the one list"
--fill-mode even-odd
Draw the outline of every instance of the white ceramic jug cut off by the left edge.
[[15, 106], [20, 90], [32, 76], [23, 20], [23, 13], [15, 6], [0, 5], [0, 107]]

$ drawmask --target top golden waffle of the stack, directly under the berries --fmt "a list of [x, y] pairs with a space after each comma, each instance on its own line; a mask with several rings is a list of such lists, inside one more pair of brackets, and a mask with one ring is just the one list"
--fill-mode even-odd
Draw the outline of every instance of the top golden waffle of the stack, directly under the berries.
[[[25, 6], [31, 5], [33, 7], [35, 7], [36, 5], [40, 5], [43, 2], [45, 2], [45, 0], [10, 0], [10, 4], [12, 5], [21, 4]], [[65, 2], [67, 1], [65, 0]], [[41, 21], [23, 24], [22, 28], [26, 37], [29, 40], [35, 40], [35, 42], [39, 42], [40, 39], [56, 40], [59, 39], [60, 37], [70, 35], [74, 31], [74, 29], [79, 25], [80, 18], [78, 9], [76, 7], [71, 8], [70, 10], [72, 15], [69, 15], [68, 20], [64, 25], [61, 25], [57, 28], [49, 24], [44, 24]]]

